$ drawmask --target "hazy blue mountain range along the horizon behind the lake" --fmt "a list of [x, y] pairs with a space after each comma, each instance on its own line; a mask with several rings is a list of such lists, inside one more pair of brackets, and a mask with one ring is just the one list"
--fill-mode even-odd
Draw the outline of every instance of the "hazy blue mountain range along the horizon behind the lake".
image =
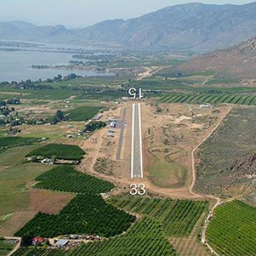
[[1, 22], [0, 39], [109, 42], [130, 49], [210, 51], [256, 35], [256, 2], [247, 5], [174, 5], [129, 20], [107, 20], [87, 28]]

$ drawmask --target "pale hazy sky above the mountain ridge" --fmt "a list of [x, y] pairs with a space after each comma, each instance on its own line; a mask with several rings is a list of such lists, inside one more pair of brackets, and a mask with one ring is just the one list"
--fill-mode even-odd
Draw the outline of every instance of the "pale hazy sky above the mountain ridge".
[[83, 27], [115, 18], [133, 18], [180, 3], [250, 3], [246, 0], [0, 0], [0, 21], [25, 20], [38, 25]]

